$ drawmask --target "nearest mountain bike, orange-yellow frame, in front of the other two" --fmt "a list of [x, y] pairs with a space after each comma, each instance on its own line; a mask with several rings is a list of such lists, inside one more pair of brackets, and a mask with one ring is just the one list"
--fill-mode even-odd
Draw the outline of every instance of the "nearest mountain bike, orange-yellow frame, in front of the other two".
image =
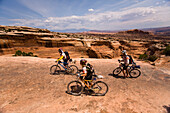
[[67, 92], [72, 95], [81, 95], [85, 90], [96, 96], [104, 96], [108, 92], [108, 86], [105, 82], [96, 81], [97, 79], [103, 78], [101, 75], [93, 75], [92, 80], [82, 79], [82, 76], [79, 73], [77, 74], [77, 77], [78, 80], [71, 81], [67, 85]]

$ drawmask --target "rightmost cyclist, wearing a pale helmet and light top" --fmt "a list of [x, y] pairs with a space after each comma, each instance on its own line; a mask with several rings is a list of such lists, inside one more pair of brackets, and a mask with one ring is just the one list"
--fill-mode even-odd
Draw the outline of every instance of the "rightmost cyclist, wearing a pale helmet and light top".
[[[122, 60], [118, 60], [119, 62], [123, 62], [123, 75], [124, 75], [124, 78], [125, 77], [128, 77], [128, 66], [129, 66], [129, 56], [127, 55], [127, 53], [126, 53], [126, 50], [123, 50], [122, 51]], [[125, 70], [126, 70], [126, 76], [125, 76]]]

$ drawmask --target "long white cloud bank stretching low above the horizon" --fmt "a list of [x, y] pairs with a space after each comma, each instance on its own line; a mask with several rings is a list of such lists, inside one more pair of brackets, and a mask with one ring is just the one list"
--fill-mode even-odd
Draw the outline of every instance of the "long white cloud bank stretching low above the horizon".
[[118, 30], [170, 25], [170, 7], [138, 7], [123, 11], [107, 11], [84, 16], [48, 17], [45, 19], [17, 19], [13, 25], [64, 29]]

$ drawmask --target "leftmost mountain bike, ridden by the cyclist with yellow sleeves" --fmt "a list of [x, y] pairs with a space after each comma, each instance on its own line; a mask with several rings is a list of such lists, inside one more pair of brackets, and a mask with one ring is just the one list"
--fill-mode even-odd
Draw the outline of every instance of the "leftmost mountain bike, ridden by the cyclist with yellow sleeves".
[[[69, 60], [72, 62], [72, 59]], [[65, 73], [67, 74], [76, 74], [78, 72], [78, 67], [76, 65], [62, 65], [64, 62], [58, 61], [56, 65], [52, 65], [50, 68], [50, 73], [53, 75], [60, 74], [61, 67], [64, 69]], [[75, 62], [74, 62], [75, 63]]]

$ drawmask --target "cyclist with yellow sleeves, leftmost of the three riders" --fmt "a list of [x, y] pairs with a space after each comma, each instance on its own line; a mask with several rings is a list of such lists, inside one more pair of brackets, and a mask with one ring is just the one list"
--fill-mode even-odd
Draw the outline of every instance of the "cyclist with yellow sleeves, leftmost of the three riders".
[[63, 59], [63, 64], [66, 67], [68, 65], [67, 63], [68, 59], [66, 57], [66, 54], [64, 53], [62, 49], [58, 49], [58, 52], [60, 53], [60, 58], [58, 58], [56, 62], [60, 62], [60, 60]]

